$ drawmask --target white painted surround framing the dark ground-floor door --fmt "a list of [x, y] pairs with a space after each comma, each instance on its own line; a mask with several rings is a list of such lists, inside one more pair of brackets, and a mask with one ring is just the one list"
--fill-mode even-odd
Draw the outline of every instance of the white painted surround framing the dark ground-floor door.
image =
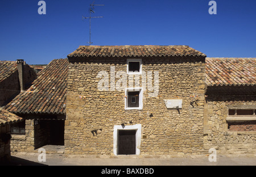
[[118, 130], [137, 130], [136, 131], [136, 155], [141, 153], [141, 124], [136, 125], [114, 125], [114, 132], [113, 132], [113, 151], [114, 155], [117, 155], [118, 150]]

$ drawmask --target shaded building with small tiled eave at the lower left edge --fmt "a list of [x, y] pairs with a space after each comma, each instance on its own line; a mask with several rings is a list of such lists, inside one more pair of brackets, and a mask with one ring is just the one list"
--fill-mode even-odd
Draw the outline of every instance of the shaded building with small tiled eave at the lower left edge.
[[21, 117], [0, 108], [0, 165], [10, 161], [11, 125], [20, 121]]

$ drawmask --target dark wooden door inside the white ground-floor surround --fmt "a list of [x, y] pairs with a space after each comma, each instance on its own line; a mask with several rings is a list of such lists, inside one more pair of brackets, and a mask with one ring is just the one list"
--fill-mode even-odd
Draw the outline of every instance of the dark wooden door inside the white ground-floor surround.
[[136, 130], [118, 131], [118, 154], [136, 154]]

